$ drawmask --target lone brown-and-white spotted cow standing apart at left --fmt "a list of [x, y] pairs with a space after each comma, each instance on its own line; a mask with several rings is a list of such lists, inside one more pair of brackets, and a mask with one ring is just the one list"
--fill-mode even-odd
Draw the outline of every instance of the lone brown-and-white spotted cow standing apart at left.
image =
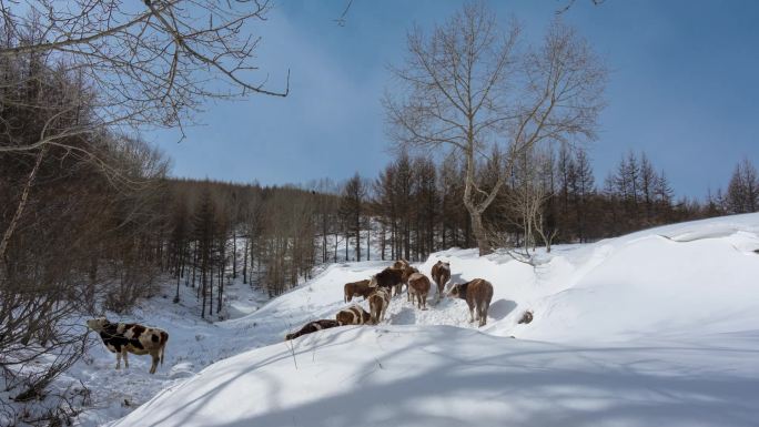
[[163, 365], [169, 333], [156, 327], [148, 327], [133, 323], [110, 323], [105, 317], [87, 321], [90, 329], [100, 334], [105, 347], [117, 355], [117, 369], [121, 368], [121, 358], [129, 368], [129, 353], [138, 356], [149, 354], [153, 358], [150, 373], [155, 374], [159, 360]]

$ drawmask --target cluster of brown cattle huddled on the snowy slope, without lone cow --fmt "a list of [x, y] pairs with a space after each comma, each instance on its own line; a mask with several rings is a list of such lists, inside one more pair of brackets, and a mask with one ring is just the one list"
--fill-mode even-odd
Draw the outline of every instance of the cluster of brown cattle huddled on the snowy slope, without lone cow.
[[[451, 279], [451, 264], [438, 261], [432, 267], [432, 278], [437, 285], [436, 303], [441, 301], [445, 285]], [[350, 303], [356, 296], [368, 301], [367, 313], [360, 305], [352, 305], [340, 311], [335, 319], [320, 319], [305, 324], [301, 329], [285, 336], [285, 340], [317, 331], [343, 326], [377, 324], [385, 319], [385, 311], [391, 297], [403, 293], [406, 285], [406, 299], [419, 309], [427, 309], [427, 294], [432, 287], [429, 278], [411, 266], [407, 261], [396, 261], [392, 266], [375, 274], [368, 279], [346, 283], [343, 288], [343, 301]], [[487, 323], [487, 308], [493, 299], [493, 285], [484, 278], [475, 278], [467, 283], [454, 284], [447, 294], [453, 298], [462, 298], [469, 306], [469, 322], [479, 321], [479, 326]]]

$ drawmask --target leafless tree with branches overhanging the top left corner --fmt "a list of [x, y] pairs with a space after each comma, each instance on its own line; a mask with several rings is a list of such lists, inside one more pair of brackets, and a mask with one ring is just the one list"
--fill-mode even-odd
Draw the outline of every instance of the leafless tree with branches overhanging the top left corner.
[[[23, 3], [23, 4], [22, 4]], [[0, 1], [0, 65], [13, 72], [13, 63], [55, 63], [58, 73], [79, 82], [36, 138], [18, 140], [7, 133], [0, 152], [36, 155], [12, 221], [0, 241], [0, 257], [23, 215], [28, 193], [50, 146], [83, 157], [123, 180], [118, 170], [88, 145], [71, 144], [72, 138], [107, 129], [176, 128], [191, 118], [204, 100], [235, 98], [249, 93], [286, 96], [256, 77], [253, 53], [260, 38], [251, 26], [263, 21], [267, 1], [237, 0], [30, 0]], [[75, 78], [75, 79], [71, 79]], [[24, 77], [33, 83], [37, 75]], [[0, 88], [3, 108], [18, 105], [16, 92]], [[29, 103], [31, 101], [31, 104]], [[27, 108], [50, 111], [45, 99], [26, 100]], [[77, 115], [83, 105], [87, 118]], [[183, 134], [183, 132], [182, 132]]]

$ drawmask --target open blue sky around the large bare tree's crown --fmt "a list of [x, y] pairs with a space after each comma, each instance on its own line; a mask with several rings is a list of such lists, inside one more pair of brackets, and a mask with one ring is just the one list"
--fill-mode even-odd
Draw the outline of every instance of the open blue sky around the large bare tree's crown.
[[[175, 176], [262, 184], [374, 177], [392, 157], [380, 99], [387, 64], [405, 54], [414, 23], [432, 28], [461, 1], [279, 0], [257, 63], [285, 99], [212, 102], [200, 125], [144, 135], [173, 160]], [[499, 19], [537, 43], [564, 0], [493, 1]], [[589, 145], [597, 183], [629, 150], [644, 150], [678, 195], [727, 185], [747, 156], [759, 166], [759, 2], [750, 0], [576, 0], [565, 22], [610, 69], [598, 140]]]

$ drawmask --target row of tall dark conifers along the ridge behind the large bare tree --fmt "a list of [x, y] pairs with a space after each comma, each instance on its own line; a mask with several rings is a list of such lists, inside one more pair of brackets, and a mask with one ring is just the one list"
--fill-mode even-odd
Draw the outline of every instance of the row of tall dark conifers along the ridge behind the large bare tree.
[[[646, 153], [624, 155], [603, 185], [596, 183], [584, 148], [564, 145], [555, 155], [536, 156], [498, 172], [496, 154], [478, 167], [484, 189], [500, 173], [509, 176], [484, 212], [497, 247], [530, 252], [536, 245], [594, 242], [661, 224], [759, 211], [759, 180], [748, 160], [736, 166], [726, 192], [700, 202], [676, 197], [666, 172]], [[351, 236], [371, 231], [382, 260], [423, 261], [452, 246], [476, 247], [470, 216], [461, 203], [463, 163], [454, 156], [433, 160], [402, 152], [374, 181], [352, 179], [363, 182], [364, 199], [351, 205], [363, 206], [364, 218], [352, 222], [355, 230], [346, 238], [361, 244]]]

